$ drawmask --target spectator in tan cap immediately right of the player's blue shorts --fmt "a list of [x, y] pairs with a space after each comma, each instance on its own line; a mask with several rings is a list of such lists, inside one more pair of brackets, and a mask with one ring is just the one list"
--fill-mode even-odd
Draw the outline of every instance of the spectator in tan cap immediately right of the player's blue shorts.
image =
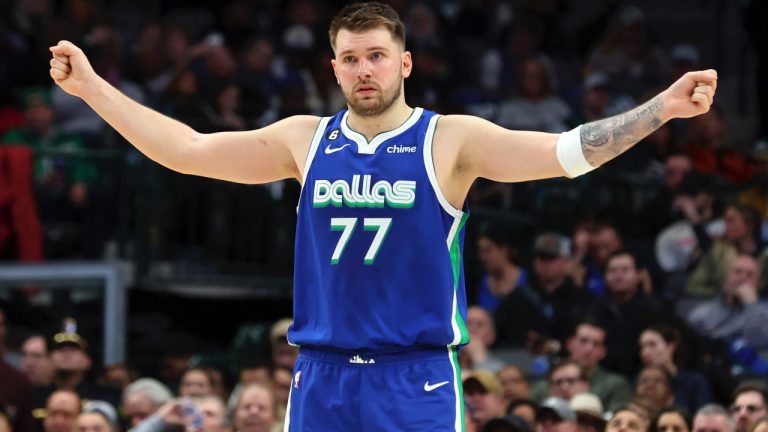
[[484, 370], [467, 372], [464, 379], [464, 399], [470, 405], [470, 420], [477, 430], [488, 421], [504, 416], [504, 398], [501, 383]]

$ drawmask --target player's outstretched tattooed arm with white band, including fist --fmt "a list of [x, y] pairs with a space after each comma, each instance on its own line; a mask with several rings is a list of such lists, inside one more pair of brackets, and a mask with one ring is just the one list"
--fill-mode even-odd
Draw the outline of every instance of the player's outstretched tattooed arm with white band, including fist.
[[511, 131], [476, 117], [446, 116], [438, 124], [436, 139], [442, 135], [454, 142], [450, 177], [467, 189], [477, 177], [500, 182], [576, 177], [620, 155], [670, 119], [709, 111], [716, 88], [714, 70], [689, 72], [626, 113], [560, 135]]

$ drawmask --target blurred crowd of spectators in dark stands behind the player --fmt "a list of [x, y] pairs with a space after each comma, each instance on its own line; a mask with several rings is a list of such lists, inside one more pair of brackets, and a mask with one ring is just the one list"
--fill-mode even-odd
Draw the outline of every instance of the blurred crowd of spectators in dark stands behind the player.
[[[245, 130], [345, 107], [326, 35], [342, 3], [0, 1], [0, 259], [289, 275], [295, 183], [157, 167], [51, 84], [47, 47], [75, 42], [111, 84], [198, 131]], [[768, 86], [739, 84], [765, 76], [766, 57], [747, 50], [752, 69], [727, 67], [701, 38], [662, 28], [665, 2], [390, 3], [414, 58], [408, 103], [509, 128], [563, 132], [688, 70], [720, 72], [710, 112], [663, 125], [588, 176], [476, 183], [471, 342], [459, 357], [467, 429], [764, 432]], [[765, 2], [689, 3], [703, 5], [692, 20], [736, 24], [745, 46], [768, 46]], [[751, 117], [734, 103], [745, 93]], [[22, 324], [34, 333], [11, 347], [18, 368], [0, 361], [0, 432], [280, 428], [295, 360], [285, 322], [267, 341], [274, 356], [228, 370], [185, 357], [161, 374], [99, 371], [71, 323], [54, 338]]]

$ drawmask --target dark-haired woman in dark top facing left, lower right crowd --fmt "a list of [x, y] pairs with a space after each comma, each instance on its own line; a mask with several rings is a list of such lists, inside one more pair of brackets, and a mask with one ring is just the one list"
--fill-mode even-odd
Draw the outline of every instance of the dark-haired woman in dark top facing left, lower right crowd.
[[680, 333], [672, 327], [654, 325], [640, 334], [640, 359], [645, 366], [663, 368], [672, 376], [675, 405], [696, 412], [712, 399], [707, 379], [700, 373], [678, 367], [675, 354]]

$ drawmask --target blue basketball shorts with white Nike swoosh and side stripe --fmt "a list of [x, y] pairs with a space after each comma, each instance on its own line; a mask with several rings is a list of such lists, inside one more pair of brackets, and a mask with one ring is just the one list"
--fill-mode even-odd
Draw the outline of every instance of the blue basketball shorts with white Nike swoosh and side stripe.
[[464, 431], [456, 349], [366, 353], [302, 347], [284, 431]]

